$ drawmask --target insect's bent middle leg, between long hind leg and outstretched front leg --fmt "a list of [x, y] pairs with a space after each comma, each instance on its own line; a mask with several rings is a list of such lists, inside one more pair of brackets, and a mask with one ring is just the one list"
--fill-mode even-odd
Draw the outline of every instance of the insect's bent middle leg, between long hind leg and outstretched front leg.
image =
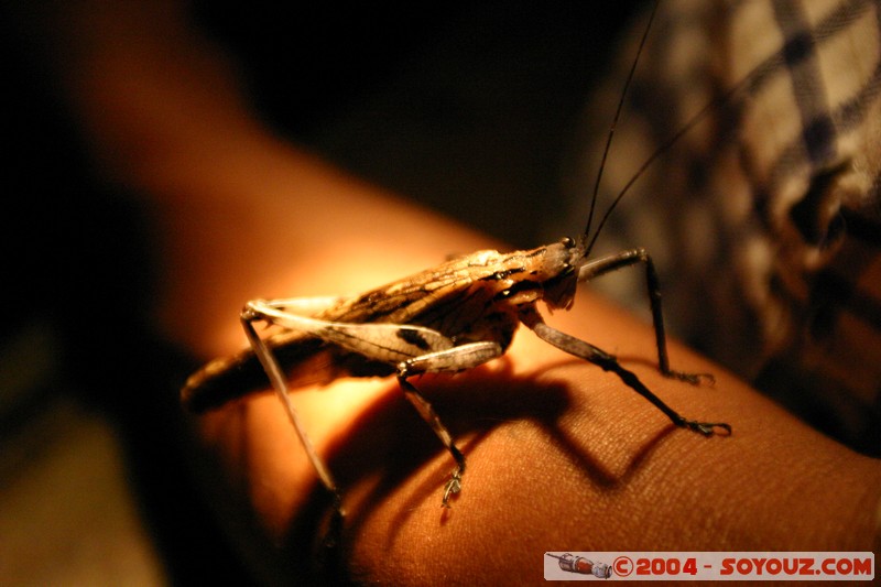
[[453, 442], [453, 436], [449, 434], [444, 423], [440, 422], [432, 404], [420, 393], [413, 383], [407, 381], [407, 378], [422, 373], [463, 371], [482, 365], [501, 355], [502, 348], [498, 343], [470, 343], [459, 347], [414, 357], [401, 361], [398, 365], [398, 382], [404, 392], [404, 396], [410, 400], [410, 403], [413, 404], [422, 418], [428, 423], [456, 461], [456, 469], [453, 471], [449, 481], [444, 486], [444, 498], [440, 503], [444, 508], [449, 508], [450, 496], [461, 491], [461, 476], [465, 472], [465, 455], [461, 454], [461, 450], [459, 450]]

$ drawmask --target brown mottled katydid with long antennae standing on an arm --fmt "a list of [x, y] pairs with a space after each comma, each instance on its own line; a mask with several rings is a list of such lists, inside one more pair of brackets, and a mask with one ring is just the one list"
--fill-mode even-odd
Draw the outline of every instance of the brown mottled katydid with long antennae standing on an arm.
[[[640, 52], [650, 25], [651, 18], [640, 43]], [[627, 85], [635, 65], [634, 59]], [[620, 116], [624, 93], [614, 122]], [[611, 144], [614, 122], [607, 138], [602, 163]], [[449, 507], [450, 497], [461, 489], [465, 457], [411, 379], [423, 373], [464, 371], [501, 357], [520, 324], [563, 351], [616, 373], [676, 426], [706, 436], [717, 430], [730, 434], [728, 424], [682, 416], [612, 355], [548, 326], [539, 312], [539, 302], [550, 309], [568, 309], [579, 282], [624, 267], [642, 264], [648, 280], [660, 371], [689, 383], [710, 378], [671, 369], [660, 285], [652, 259], [644, 249], [635, 248], [601, 259], [589, 259], [606, 219], [624, 193], [619, 194], [596, 231], [591, 232], [597, 198], [595, 188], [587, 227], [575, 239], [565, 238], [553, 244], [507, 253], [477, 251], [352, 297], [248, 302], [240, 319], [250, 347], [230, 358], [215, 359], [195, 372], [182, 390], [182, 401], [195, 411], [208, 410], [264, 388], [268, 377], [320, 482], [334, 496], [338, 511], [341, 500], [337, 486], [328, 467], [313, 448], [289, 390], [307, 382], [328, 382], [339, 377], [394, 376], [406, 399], [456, 463], [443, 490], [442, 504]], [[282, 331], [263, 338], [258, 334], [255, 323], [267, 323], [280, 327]]]

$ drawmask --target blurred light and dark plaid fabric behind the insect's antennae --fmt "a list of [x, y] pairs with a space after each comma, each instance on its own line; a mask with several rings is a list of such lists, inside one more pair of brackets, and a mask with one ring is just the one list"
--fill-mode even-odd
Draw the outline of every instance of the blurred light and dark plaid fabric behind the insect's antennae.
[[[600, 241], [649, 248], [679, 337], [881, 454], [881, 4], [668, 0], [650, 40], [605, 202], [716, 104], [641, 177]], [[597, 104], [614, 105], [634, 52], [635, 42], [621, 52], [621, 75]], [[611, 120], [608, 108], [590, 112], [569, 217], [587, 215], [584, 187]], [[645, 305], [640, 278], [618, 284], [638, 293], [613, 295]]]

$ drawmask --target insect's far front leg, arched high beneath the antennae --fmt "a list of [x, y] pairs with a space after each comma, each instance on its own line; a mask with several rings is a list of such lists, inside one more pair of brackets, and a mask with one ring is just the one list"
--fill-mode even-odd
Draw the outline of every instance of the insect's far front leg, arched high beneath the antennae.
[[652, 323], [654, 325], [655, 347], [657, 348], [657, 367], [661, 373], [665, 377], [687, 381], [692, 384], [697, 384], [701, 379], [710, 382], [715, 380], [710, 373], [683, 373], [674, 371], [670, 368], [670, 356], [667, 355], [667, 340], [664, 328], [664, 314], [661, 311], [661, 282], [657, 279], [657, 271], [654, 268], [649, 251], [642, 247], [637, 249], [629, 249], [616, 254], [610, 254], [601, 259], [588, 261], [578, 272], [578, 281], [589, 281], [617, 271], [624, 267], [630, 267], [635, 263], [643, 263], [645, 265], [645, 283], [649, 290], [649, 304], [652, 311]]

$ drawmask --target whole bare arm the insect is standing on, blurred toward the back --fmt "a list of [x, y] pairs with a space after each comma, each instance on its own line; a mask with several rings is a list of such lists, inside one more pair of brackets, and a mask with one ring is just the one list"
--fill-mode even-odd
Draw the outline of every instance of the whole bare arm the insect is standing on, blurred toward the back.
[[[96, 162], [151, 206], [164, 276], [152, 312], [168, 340], [206, 359], [232, 352], [246, 300], [355, 293], [450, 252], [498, 247], [274, 139], [175, 10], [104, 6], [101, 26], [43, 26], [73, 47], [59, 79]], [[69, 10], [59, 22], [77, 17]], [[135, 29], [163, 36], [128, 43]], [[102, 43], [115, 51], [89, 48]], [[548, 323], [617, 354], [685, 416], [728, 422], [733, 435], [677, 430], [614, 376], [522, 329], [502, 360], [420, 380], [468, 458], [445, 511], [453, 463], [393, 380], [303, 390], [296, 405], [347, 512], [325, 570], [365, 583], [510, 583], [539, 580], [553, 550], [873, 548], [878, 460], [675, 343], [672, 367], [711, 372], [716, 384], [661, 377], [651, 328], [595, 296]], [[278, 400], [227, 405], [193, 432], [194, 467], [254, 573], [323, 573], [315, 554], [329, 501]]]

